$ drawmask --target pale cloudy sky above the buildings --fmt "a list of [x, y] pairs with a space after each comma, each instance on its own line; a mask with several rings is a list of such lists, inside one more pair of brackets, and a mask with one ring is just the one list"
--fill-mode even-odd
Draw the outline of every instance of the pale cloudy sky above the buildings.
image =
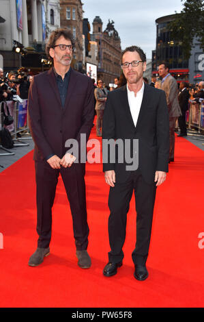
[[91, 32], [96, 16], [106, 29], [108, 19], [115, 22], [115, 29], [121, 38], [121, 49], [137, 45], [151, 59], [151, 51], [156, 49], [156, 18], [181, 12], [181, 0], [83, 0], [84, 18], [89, 19]]

